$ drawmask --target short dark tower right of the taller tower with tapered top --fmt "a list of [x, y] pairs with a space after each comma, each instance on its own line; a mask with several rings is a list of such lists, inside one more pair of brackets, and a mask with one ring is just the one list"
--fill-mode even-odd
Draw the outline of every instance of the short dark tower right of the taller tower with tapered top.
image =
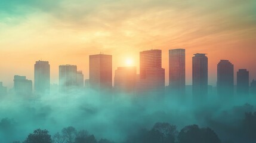
[[249, 71], [239, 69], [237, 73], [237, 90], [239, 95], [249, 94]]

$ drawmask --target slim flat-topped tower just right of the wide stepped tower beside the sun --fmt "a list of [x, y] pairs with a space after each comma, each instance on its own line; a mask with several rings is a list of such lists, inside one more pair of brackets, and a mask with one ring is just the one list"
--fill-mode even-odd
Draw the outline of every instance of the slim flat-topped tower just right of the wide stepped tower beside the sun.
[[169, 88], [185, 91], [185, 49], [169, 50]]

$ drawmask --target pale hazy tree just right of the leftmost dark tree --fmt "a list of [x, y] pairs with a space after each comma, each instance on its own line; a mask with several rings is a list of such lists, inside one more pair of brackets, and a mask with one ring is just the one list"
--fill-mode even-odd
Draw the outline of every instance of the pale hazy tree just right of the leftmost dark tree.
[[67, 128], [63, 128], [61, 130], [63, 138], [65, 139], [65, 141], [67, 143], [73, 143], [75, 142], [75, 138], [76, 138], [76, 129], [73, 128], [72, 126], [69, 126]]

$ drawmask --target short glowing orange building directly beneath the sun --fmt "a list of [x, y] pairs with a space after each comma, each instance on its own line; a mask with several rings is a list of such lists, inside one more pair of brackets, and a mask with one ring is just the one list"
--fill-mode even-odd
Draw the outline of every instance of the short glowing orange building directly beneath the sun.
[[118, 67], [115, 70], [115, 90], [134, 92], [136, 84], [136, 67]]

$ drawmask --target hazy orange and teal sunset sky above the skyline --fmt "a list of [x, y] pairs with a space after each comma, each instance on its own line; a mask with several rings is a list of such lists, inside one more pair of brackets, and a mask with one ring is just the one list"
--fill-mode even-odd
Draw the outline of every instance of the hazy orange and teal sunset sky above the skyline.
[[221, 59], [235, 65], [235, 76], [248, 69], [256, 79], [256, 1], [0, 1], [0, 81], [8, 88], [15, 74], [33, 80], [38, 60], [50, 62], [51, 83], [60, 64], [77, 65], [88, 79], [88, 56], [100, 52], [113, 55], [113, 72], [128, 59], [138, 73], [139, 52], [148, 49], [162, 49], [168, 85], [175, 48], [186, 49], [187, 85], [198, 52], [208, 54], [210, 85]]

